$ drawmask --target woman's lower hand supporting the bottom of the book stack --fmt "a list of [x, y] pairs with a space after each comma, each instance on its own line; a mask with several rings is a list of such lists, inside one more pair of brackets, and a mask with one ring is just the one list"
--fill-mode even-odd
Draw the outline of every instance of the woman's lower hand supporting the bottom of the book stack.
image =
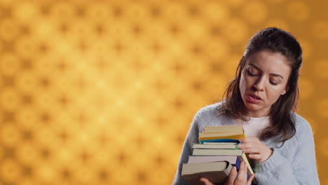
[[[236, 167], [231, 168], [231, 172], [226, 179], [226, 183], [224, 185], [250, 185], [255, 175], [252, 174], [250, 179], [247, 181], [247, 165], [244, 162], [240, 163], [239, 172], [237, 172]], [[214, 185], [208, 179], [201, 177], [199, 181], [202, 181], [204, 185]]]

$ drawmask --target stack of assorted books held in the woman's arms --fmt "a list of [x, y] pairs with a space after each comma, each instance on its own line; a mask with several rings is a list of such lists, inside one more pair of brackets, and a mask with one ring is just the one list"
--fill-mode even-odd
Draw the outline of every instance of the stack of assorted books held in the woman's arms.
[[[246, 154], [238, 149], [239, 139], [245, 138], [242, 125], [207, 126], [199, 133], [199, 144], [193, 144], [192, 156], [182, 165], [182, 178], [190, 184], [202, 184], [205, 177], [214, 184], [224, 184], [233, 166], [239, 170], [243, 161], [247, 176], [254, 174]], [[253, 180], [256, 184], [256, 180]]]

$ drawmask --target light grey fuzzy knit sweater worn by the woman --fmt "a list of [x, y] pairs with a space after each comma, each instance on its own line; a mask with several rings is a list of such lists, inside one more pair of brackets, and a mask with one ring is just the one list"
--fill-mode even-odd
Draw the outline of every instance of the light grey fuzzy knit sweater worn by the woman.
[[[219, 102], [204, 107], [194, 116], [179, 159], [177, 173], [173, 180], [174, 185], [188, 184], [180, 177], [182, 163], [187, 163], [191, 156], [192, 144], [198, 143], [198, 132], [203, 132], [203, 128], [208, 125], [235, 124], [232, 118], [228, 118], [224, 114], [217, 114], [220, 104]], [[320, 184], [315, 163], [313, 132], [304, 118], [298, 114], [294, 114], [294, 116], [296, 118], [296, 135], [288, 139], [281, 148], [278, 148], [281, 144], [275, 139], [262, 141], [273, 149], [273, 153], [263, 163], [254, 162], [255, 177], [259, 185]]]

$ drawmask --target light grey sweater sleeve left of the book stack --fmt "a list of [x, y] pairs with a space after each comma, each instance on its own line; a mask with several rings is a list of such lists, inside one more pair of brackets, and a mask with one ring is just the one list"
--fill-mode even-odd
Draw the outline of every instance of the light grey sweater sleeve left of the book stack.
[[192, 155], [192, 145], [193, 143], [198, 143], [198, 117], [200, 115], [200, 111], [194, 116], [193, 121], [191, 123], [191, 127], [184, 141], [184, 145], [182, 147], [182, 153], [179, 158], [179, 163], [177, 166], [177, 172], [175, 173], [175, 179], [173, 180], [174, 185], [187, 185], [188, 182], [184, 181], [181, 178], [181, 170], [182, 163], [188, 163], [189, 156]]

